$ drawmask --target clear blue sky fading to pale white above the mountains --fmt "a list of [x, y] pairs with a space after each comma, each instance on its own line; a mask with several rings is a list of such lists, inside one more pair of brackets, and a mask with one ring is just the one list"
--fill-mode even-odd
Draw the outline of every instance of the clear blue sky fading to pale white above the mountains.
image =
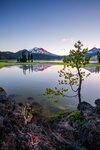
[[100, 0], [0, 0], [0, 51], [100, 48]]

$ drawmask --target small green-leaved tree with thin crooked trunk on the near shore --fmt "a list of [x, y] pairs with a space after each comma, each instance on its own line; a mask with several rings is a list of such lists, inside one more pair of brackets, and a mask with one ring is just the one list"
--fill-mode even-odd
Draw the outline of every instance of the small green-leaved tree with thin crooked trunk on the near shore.
[[[82, 71], [82, 67], [89, 63], [90, 57], [85, 56], [88, 49], [82, 49], [83, 44], [80, 41], [75, 43], [74, 47], [76, 50], [70, 50], [69, 56], [64, 58], [64, 63], [66, 63], [67, 67], [71, 66], [72, 68], [76, 68], [76, 73], [71, 72], [70, 69], [67, 71], [65, 69], [60, 70], [59, 76], [61, 77], [61, 80], [59, 80], [59, 84], [70, 85], [72, 91], [78, 96], [80, 104], [82, 81], [89, 75], [86, 74], [85, 71]], [[68, 91], [68, 89], [62, 88], [58, 90], [58, 88], [55, 87], [54, 90], [47, 88], [45, 93], [66, 96], [66, 91]]]

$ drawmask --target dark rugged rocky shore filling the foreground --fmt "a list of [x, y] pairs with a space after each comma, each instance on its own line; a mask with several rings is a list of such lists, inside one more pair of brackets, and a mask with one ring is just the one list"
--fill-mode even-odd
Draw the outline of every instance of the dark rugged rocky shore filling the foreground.
[[48, 121], [35, 102], [16, 103], [0, 88], [0, 150], [99, 150], [100, 99], [82, 102], [85, 122], [63, 114]]

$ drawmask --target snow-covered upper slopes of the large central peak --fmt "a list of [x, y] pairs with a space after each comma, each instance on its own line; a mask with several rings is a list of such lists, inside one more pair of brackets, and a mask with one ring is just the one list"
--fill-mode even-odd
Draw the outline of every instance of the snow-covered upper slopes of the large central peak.
[[34, 47], [33, 49], [30, 49], [29, 52], [33, 54], [45, 54], [45, 55], [56, 56], [56, 54], [52, 54], [48, 52], [47, 50], [43, 48], [38, 48], [38, 47]]

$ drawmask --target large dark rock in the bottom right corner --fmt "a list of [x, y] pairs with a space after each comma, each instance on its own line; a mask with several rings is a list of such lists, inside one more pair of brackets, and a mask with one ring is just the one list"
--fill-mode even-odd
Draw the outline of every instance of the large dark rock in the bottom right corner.
[[95, 120], [91, 120], [78, 131], [80, 143], [88, 150], [99, 150], [100, 148], [100, 124], [96, 125]]

